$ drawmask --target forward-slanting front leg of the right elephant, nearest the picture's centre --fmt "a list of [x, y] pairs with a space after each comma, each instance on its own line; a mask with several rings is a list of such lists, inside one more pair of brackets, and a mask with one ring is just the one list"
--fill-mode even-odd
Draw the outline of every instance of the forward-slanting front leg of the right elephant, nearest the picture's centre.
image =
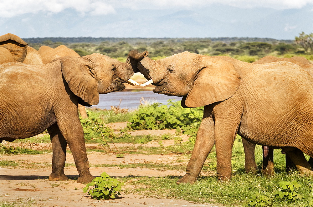
[[203, 119], [197, 133], [191, 158], [187, 165], [186, 174], [177, 181], [177, 184], [193, 184], [196, 182], [203, 164], [214, 145], [214, 122], [211, 112], [206, 107], [204, 107]]

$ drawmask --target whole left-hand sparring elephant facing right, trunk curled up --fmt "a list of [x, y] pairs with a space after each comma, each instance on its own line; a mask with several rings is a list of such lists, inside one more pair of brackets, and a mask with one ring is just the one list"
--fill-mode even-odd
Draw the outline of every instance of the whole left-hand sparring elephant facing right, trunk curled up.
[[125, 63], [99, 53], [61, 57], [43, 65], [21, 62], [0, 64], [0, 143], [42, 133], [52, 142], [51, 181], [68, 180], [64, 174], [66, 145], [79, 173], [78, 183], [89, 183], [84, 132], [77, 104], [97, 105], [99, 94], [121, 91], [148, 54], [129, 52]]

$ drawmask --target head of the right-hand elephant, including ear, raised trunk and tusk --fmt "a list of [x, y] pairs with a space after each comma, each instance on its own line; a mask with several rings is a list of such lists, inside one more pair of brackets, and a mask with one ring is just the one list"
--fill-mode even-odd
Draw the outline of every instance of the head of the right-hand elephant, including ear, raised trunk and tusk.
[[156, 86], [154, 93], [183, 96], [183, 107], [199, 107], [233, 96], [240, 77], [232, 63], [218, 58], [182, 52], [138, 63], [139, 71]]

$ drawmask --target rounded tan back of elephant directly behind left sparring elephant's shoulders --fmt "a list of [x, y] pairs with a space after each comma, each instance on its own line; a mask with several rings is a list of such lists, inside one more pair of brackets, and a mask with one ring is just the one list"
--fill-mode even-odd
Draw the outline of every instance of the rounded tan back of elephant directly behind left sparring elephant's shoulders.
[[49, 46], [41, 46], [38, 50], [39, 54], [41, 55], [44, 64], [49, 63], [55, 58], [58, 57], [80, 57], [80, 55], [72, 49], [69, 49], [65, 45], [60, 45], [56, 48], [51, 48]]

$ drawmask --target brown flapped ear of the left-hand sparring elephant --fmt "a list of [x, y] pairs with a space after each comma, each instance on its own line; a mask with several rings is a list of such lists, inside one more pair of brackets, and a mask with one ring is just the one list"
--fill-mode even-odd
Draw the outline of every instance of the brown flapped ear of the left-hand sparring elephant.
[[95, 70], [81, 57], [61, 60], [61, 70], [71, 91], [90, 105], [99, 103], [98, 81]]

